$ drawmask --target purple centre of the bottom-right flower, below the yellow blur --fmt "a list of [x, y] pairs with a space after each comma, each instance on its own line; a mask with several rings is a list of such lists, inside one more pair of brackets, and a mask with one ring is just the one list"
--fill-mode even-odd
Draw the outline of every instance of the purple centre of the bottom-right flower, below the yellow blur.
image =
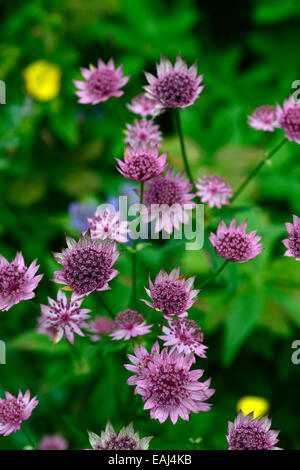
[[270, 450], [269, 436], [257, 425], [242, 424], [230, 434], [231, 450]]

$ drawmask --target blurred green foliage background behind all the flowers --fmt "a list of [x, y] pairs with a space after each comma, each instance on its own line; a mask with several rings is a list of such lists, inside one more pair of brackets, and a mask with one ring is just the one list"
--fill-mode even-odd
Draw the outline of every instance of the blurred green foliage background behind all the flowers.
[[[205, 90], [182, 113], [188, 154], [195, 176], [218, 172], [234, 188], [280, 139], [247, 126], [246, 117], [260, 104], [282, 102], [300, 78], [297, 0], [29, 0], [1, 2], [0, 79], [6, 104], [0, 105], [0, 252], [11, 259], [21, 250], [29, 263], [38, 258], [45, 273], [36, 303], [54, 297], [50, 281], [57, 268], [51, 251], [65, 246], [72, 202], [95, 204], [117, 196], [125, 180], [113, 156], [123, 149], [123, 119], [134, 116], [125, 104], [145, 84], [143, 70], [154, 71], [160, 54], [174, 60], [178, 51], [205, 73]], [[125, 94], [96, 107], [77, 104], [72, 79], [79, 67], [114, 57], [131, 79]], [[23, 71], [45, 59], [61, 68], [58, 96], [39, 102], [26, 95]], [[169, 112], [158, 118], [163, 150], [182, 169], [180, 148]], [[208, 359], [197, 361], [216, 389], [208, 413], [190, 422], [160, 425], [143, 411], [140, 397], [125, 385], [129, 374], [126, 347], [103, 340], [91, 344], [76, 337], [84, 367], [74, 365], [63, 340], [53, 346], [35, 331], [38, 310], [22, 302], [0, 314], [0, 338], [7, 344], [7, 364], [0, 365], [0, 391], [30, 388], [39, 406], [27, 423], [31, 435], [61, 432], [70, 448], [89, 447], [86, 429], [98, 433], [108, 418], [120, 429], [131, 420], [142, 436], [153, 435], [151, 448], [188, 449], [189, 437], [202, 437], [201, 449], [227, 448], [227, 421], [244, 395], [267, 398], [273, 428], [281, 429], [280, 447], [300, 448], [299, 373], [291, 362], [291, 343], [300, 338], [299, 263], [284, 258], [284, 222], [299, 213], [300, 150], [288, 143], [239, 198], [230, 220], [249, 220], [263, 236], [265, 250], [255, 260], [232, 264], [199, 297], [191, 310], [209, 346]], [[239, 207], [238, 207], [239, 206]], [[221, 215], [216, 213], [215, 223]], [[144, 297], [149, 271], [183, 265], [188, 275], [205, 279], [220, 259], [206, 243], [185, 251], [184, 244], [157, 243], [139, 255], [139, 290]], [[104, 298], [117, 313], [127, 308], [131, 268], [128, 253], [118, 261], [121, 274]], [[97, 295], [85, 305], [105, 314]], [[149, 321], [157, 313], [141, 303]], [[2, 396], [2, 395], [1, 395]], [[0, 448], [21, 448], [21, 433], [0, 436]]]

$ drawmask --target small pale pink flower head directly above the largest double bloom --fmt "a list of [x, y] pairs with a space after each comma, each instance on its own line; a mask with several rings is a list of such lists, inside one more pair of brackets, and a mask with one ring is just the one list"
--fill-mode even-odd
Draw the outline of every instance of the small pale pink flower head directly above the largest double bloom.
[[159, 336], [164, 346], [171, 346], [170, 351], [176, 349], [179, 353], [206, 357], [207, 346], [203, 344], [203, 333], [194, 320], [176, 318], [168, 323], [168, 327], [162, 328], [164, 335]]

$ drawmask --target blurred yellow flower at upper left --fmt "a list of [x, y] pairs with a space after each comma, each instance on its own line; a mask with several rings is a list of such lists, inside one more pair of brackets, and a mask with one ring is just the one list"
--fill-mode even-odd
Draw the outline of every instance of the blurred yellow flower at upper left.
[[61, 68], [46, 60], [37, 60], [23, 70], [25, 88], [38, 101], [50, 101], [60, 91]]

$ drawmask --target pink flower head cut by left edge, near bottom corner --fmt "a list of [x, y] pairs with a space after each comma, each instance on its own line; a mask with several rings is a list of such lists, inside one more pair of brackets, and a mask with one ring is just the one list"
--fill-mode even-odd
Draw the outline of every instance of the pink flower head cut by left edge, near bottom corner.
[[22, 422], [30, 418], [37, 404], [36, 397], [30, 400], [29, 390], [25, 395], [19, 390], [17, 397], [5, 392], [5, 398], [0, 398], [0, 434], [8, 436], [18, 431]]

